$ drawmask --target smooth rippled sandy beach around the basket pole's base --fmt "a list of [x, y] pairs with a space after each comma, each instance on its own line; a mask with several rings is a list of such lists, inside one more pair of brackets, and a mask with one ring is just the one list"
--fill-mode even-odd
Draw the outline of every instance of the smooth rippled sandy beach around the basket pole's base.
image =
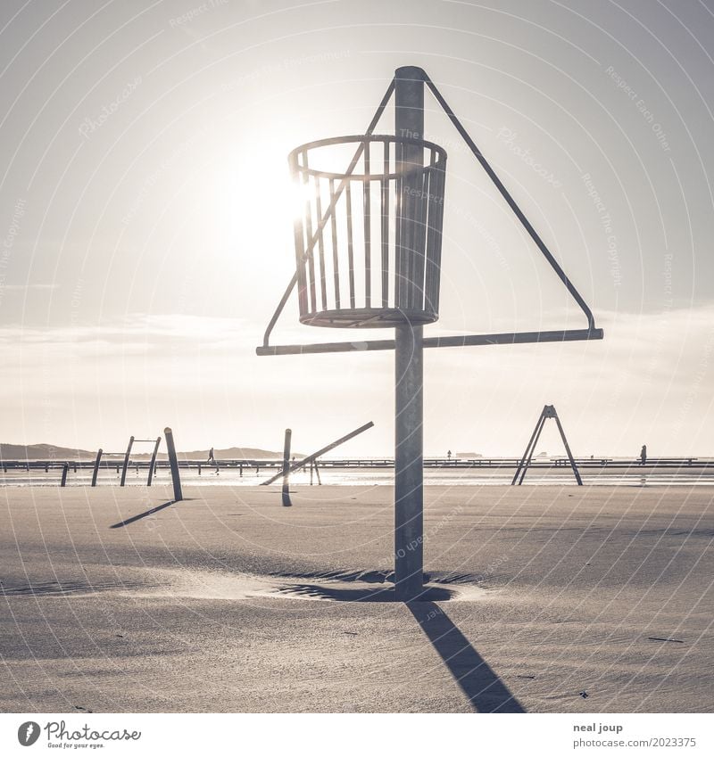
[[708, 487], [2, 493], [3, 712], [711, 712]]

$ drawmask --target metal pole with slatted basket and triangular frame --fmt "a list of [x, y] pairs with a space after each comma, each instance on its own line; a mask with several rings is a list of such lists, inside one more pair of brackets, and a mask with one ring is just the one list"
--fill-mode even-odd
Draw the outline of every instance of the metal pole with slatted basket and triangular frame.
[[[427, 88], [582, 309], [585, 328], [424, 337], [424, 325], [438, 319], [446, 170], [444, 150], [423, 140]], [[392, 95], [394, 136], [375, 135]], [[295, 276], [256, 352], [394, 350], [394, 584], [397, 599], [410, 601], [423, 592], [423, 349], [602, 339], [602, 329], [424, 70], [396, 70], [364, 135], [303, 144], [289, 163], [304, 191]], [[394, 339], [271, 345], [295, 287], [301, 323], [394, 328]]]

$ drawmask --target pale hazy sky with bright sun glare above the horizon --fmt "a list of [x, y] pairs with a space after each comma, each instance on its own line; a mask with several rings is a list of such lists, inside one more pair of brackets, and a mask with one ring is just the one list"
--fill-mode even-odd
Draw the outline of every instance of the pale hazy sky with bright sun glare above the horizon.
[[[295, 266], [287, 152], [361, 132], [413, 64], [605, 329], [428, 350], [426, 454], [519, 454], [548, 403], [577, 455], [714, 456], [712, 0], [3, 0], [0, 29], [0, 440], [277, 449], [290, 425], [307, 452], [373, 420], [345, 452], [391, 454], [391, 352], [254, 348]], [[584, 325], [428, 109], [449, 166], [427, 334]], [[341, 336], [295, 302], [276, 332]]]

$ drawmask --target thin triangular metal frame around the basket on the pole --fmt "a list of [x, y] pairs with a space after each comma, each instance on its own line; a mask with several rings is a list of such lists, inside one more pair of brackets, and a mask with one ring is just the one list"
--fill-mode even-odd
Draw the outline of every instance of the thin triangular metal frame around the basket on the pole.
[[[550, 264], [556, 276], [560, 278], [560, 281], [564, 284], [568, 290], [570, 296], [577, 302], [578, 307], [585, 314], [587, 319], [587, 328], [585, 329], [564, 329], [560, 331], [535, 331], [535, 332], [511, 332], [511, 333], [486, 333], [486, 334], [468, 334], [462, 336], [436, 336], [425, 337], [423, 340], [424, 347], [464, 347], [474, 345], [486, 345], [486, 344], [525, 344], [542, 341], [582, 341], [590, 339], [602, 339], [602, 329], [595, 326], [595, 320], [592, 311], [587, 306], [587, 303], [575, 288], [575, 285], [569, 280], [565, 271], [560, 267], [558, 261], [552, 256], [550, 250], [548, 250], [544, 241], [535, 231], [535, 228], [531, 226], [530, 222], [520, 210], [516, 201], [511, 197], [511, 193], [502, 184], [501, 179], [496, 175], [494, 169], [488, 163], [484, 154], [478, 149], [476, 143], [471, 139], [469, 133], [461, 124], [461, 121], [456, 117], [454, 112], [448, 103], [444, 100], [444, 96], [436, 88], [434, 82], [428, 77], [426, 72], [423, 72], [424, 83], [428, 86], [432, 95], [434, 95], [436, 102], [439, 103], [442, 110], [446, 113], [451, 120], [454, 128], [459, 132], [461, 138], [469, 147], [469, 150], [473, 153], [474, 157], [481, 164], [482, 168], [486, 171], [487, 176], [494, 183], [496, 189], [501, 193], [503, 199], [509, 205], [516, 218], [519, 219], [521, 225], [526, 229], [528, 235], [535, 243], [538, 251], [544, 256], [546, 261]], [[389, 103], [394, 93], [394, 79], [387, 87], [385, 96], [379, 103], [377, 111], [375, 111], [374, 117], [369, 122], [369, 127], [365, 132], [365, 136], [371, 136], [374, 134], [375, 128], [382, 113], [385, 111], [386, 105]], [[354, 167], [357, 165], [361, 157], [363, 146], [361, 145], [357, 152], [355, 152], [352, 162], [346, 171], [346, 175], [349, 176]], [[336, 191], [335, 199], [330, 202], [329, 207], [325, 210], [323, 217], [318, 224], [317, 229], [312, 237], [309, 249], [306, 251], [306, 255], [310, 253], [312, 247], [317, 243], [317, 240], [322, 233], [322, 229], [327, 225], [331, 214], [335, 210], [336, 202], [339, 199], [345, 183], [343, 182]], [[270, 345], [270, 333], [278, 323], [280, 314], [285, 309], [287, 300], [290, 294], [295, 289], [297, 284], [297, 272], [293, 276], [290, 284], [287, 285], [286, 291], [282, 296], [282, 299], [278, 303], [273, 317], [270, 318], [270, 323], [263, 336], [263, 343], [261, 347], [258, 347], [255, 351], [258, 355], [295, 355], [306, 353], [320, 353], [320, 352], [353, 352], [364, 350], [394, 350], [394, 339], [379, 339], [379, 340], [362, 340], [362, 341], [332, 341], [332, 342], [319, 342], [315, 344], [288, 344], [288, 345]], [[560, 424], [559, 424], [560, 425]]]

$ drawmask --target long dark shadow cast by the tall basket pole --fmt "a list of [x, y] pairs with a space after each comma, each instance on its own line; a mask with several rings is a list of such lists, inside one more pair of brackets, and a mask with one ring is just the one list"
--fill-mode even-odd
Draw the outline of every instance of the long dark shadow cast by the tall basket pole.
[[526, 712], [469, 639], [433, 602], [407, 604], [477, 712]]

